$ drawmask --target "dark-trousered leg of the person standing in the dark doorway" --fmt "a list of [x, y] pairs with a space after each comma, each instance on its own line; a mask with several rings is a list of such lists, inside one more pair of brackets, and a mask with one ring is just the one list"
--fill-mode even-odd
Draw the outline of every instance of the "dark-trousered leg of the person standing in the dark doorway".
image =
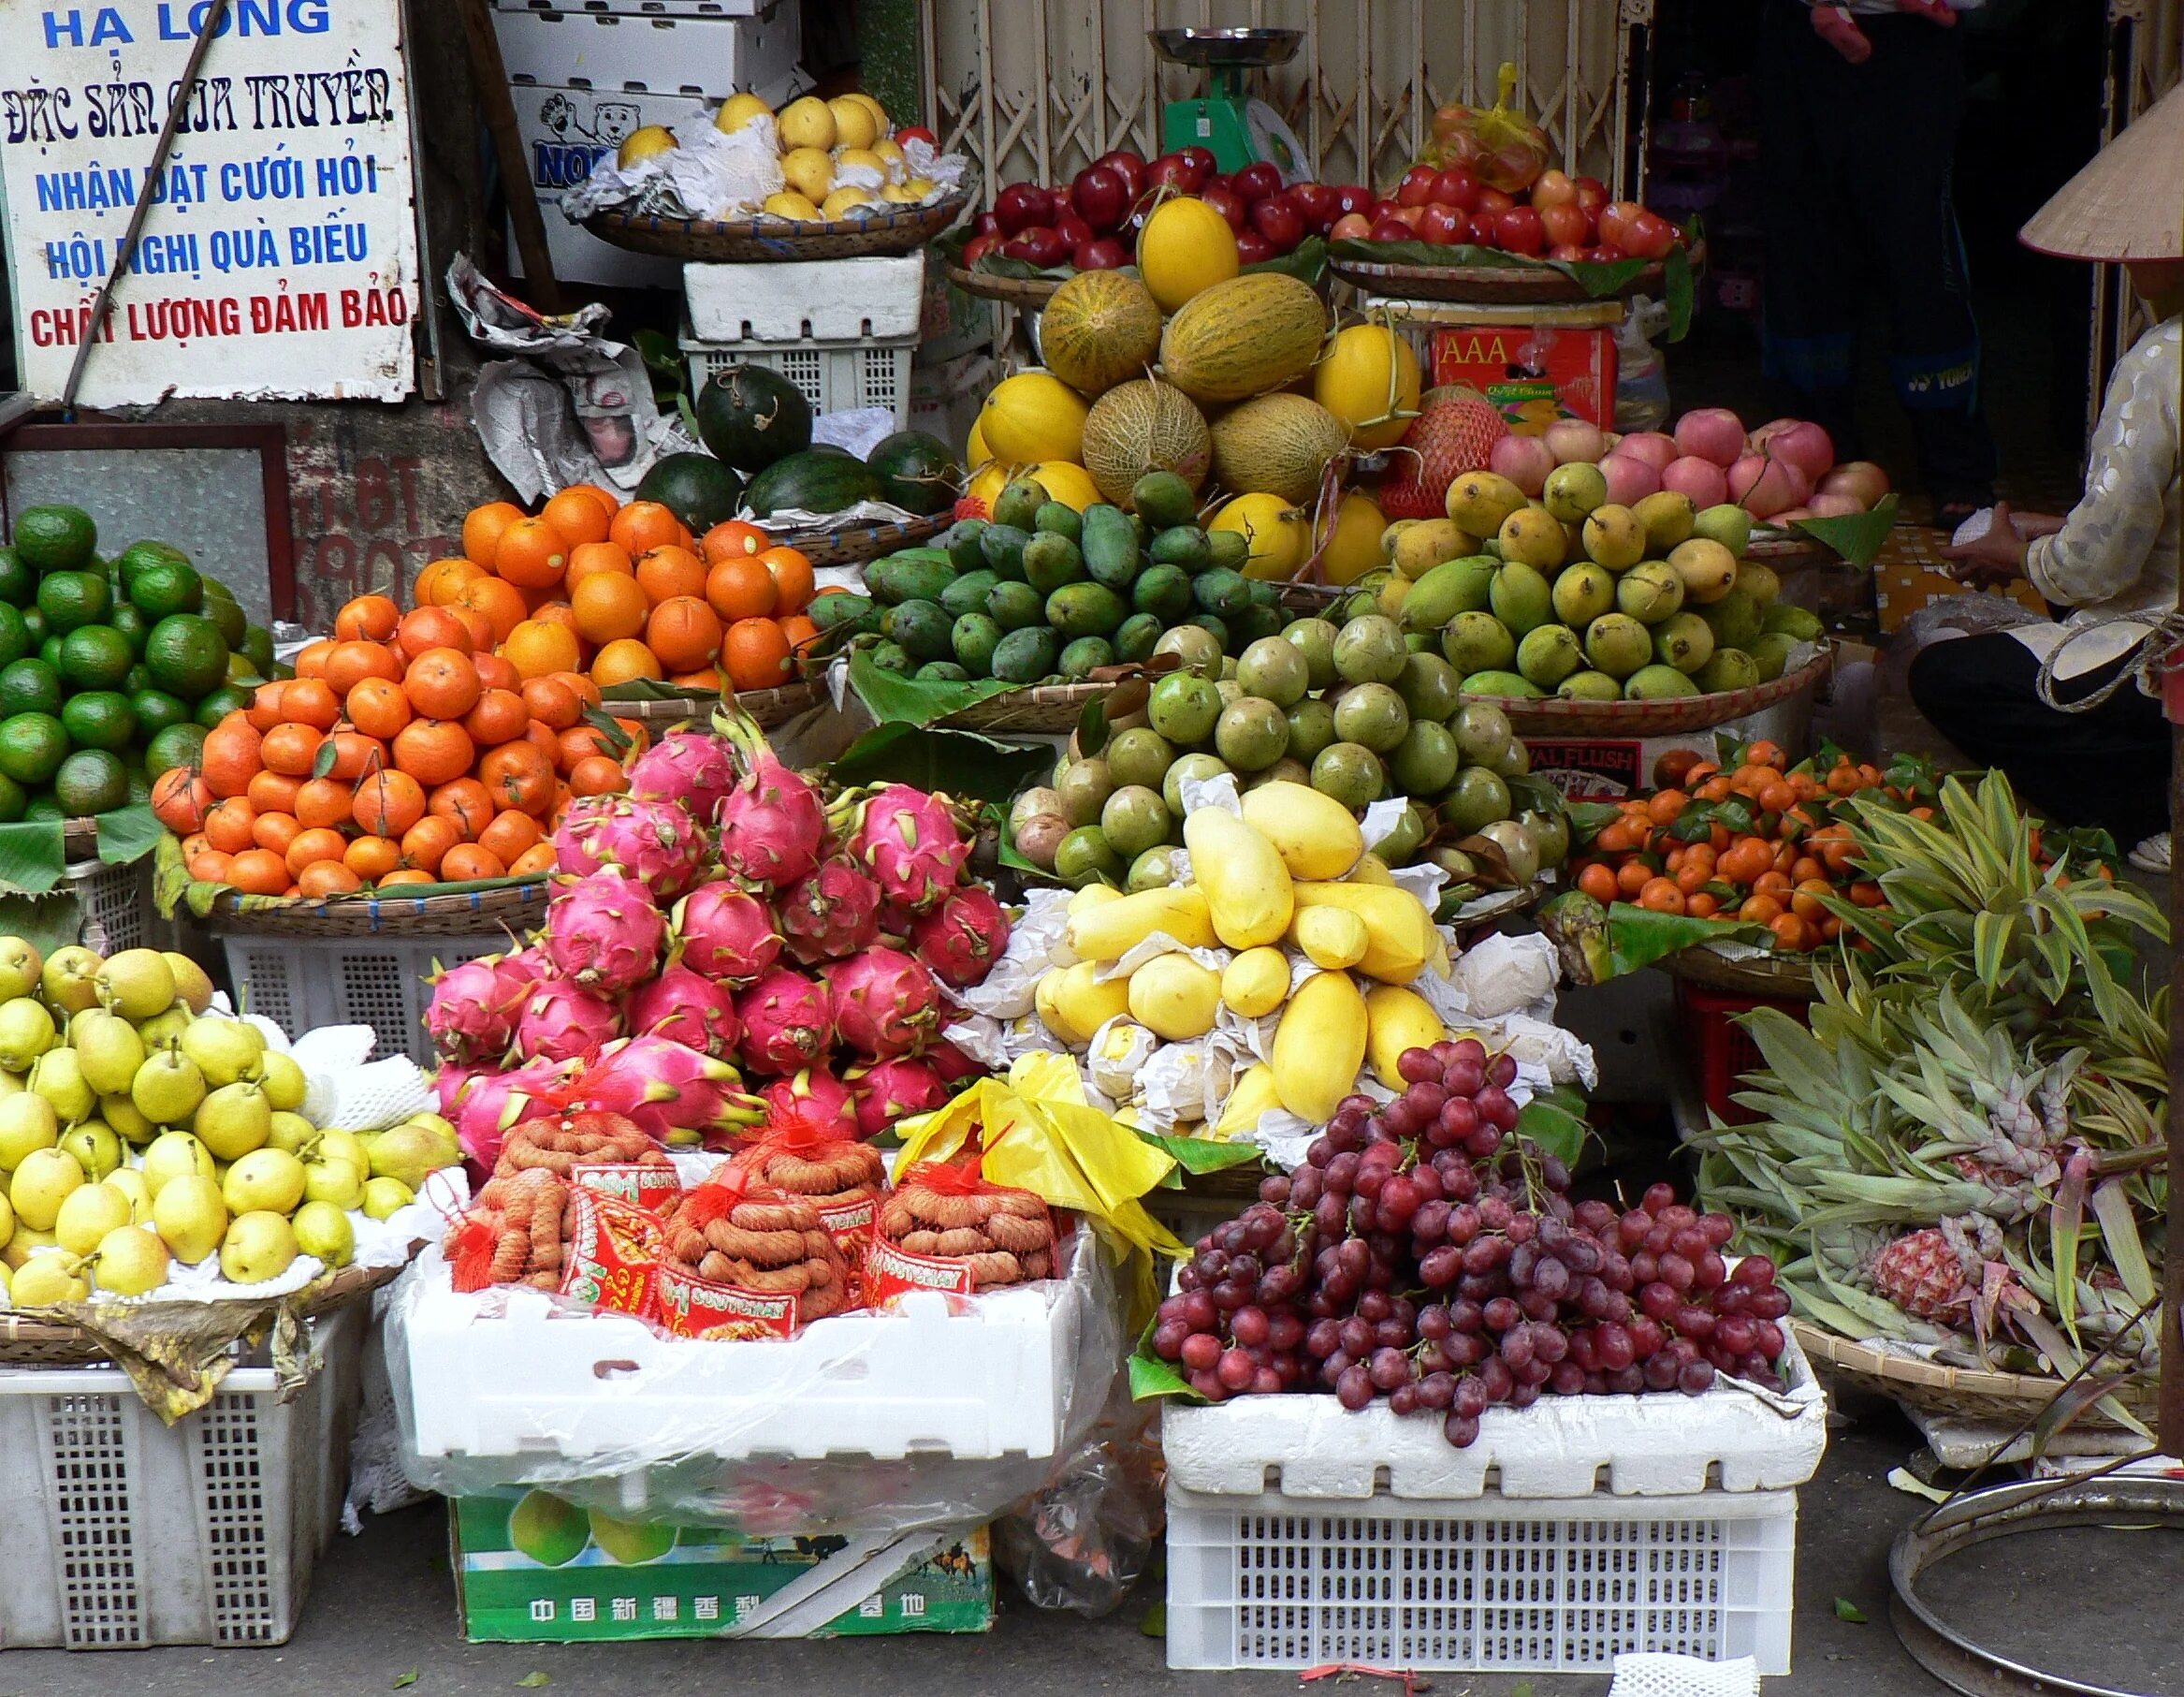
[[1922, 17], [1867, 22], [1874, 55], [1854, 74], [1872, 83], [1874, 118], [1852, 124], [1843, 146], [1887, 271], [1889, 371], [1935, 507], [1983, 507], [1994, 498], [1994, 439], [1981, 415], [1979, 323], [1950, 194], [1963, 39]]

